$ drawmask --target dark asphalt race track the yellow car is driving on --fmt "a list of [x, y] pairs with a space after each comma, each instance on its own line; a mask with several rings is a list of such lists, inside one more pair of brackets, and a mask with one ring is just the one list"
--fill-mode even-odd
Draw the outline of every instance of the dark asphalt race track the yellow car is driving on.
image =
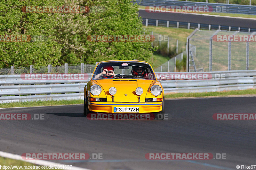
[[[218, 121], [214, 113], [255, 113], [256, 97], [166, 100], [168, 120], [90, 121], [83, 105], [0, 109], [46, 120], [1, 120], [0, 150], [103, 153], [101, 160], [57, 160], [89, 169], [236, 169], [256, 164], [256, 121]], [[148, 160], [146, 153], [225, 153], [226, 159]], [[52, 160], [53, 161], [53, 160]]]

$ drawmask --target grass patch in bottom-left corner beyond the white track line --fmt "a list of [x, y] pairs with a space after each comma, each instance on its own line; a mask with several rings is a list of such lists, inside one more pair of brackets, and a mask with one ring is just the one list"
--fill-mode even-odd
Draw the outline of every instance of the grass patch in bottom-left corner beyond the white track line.
[[[4, 158], [4, 157], [0, 157], [0, 165], [1, 166], [8, 166], [8, 168], [11, 165], [12, 167], [10, 169], [13, 169], [13, 170], [26, 169], [26, 167], [24, 168], [24, 166], [34, 166], [34, 168], [30, 168], [30, 169], [39, 169], [39, 167], [38, 168], [35, 167], [35, 166], [39, 166], [39, 165], [31, 164], [31, 163], [24, 162], [24, 161], [21, 161], [21, 160]], [[13, 166], [21, 166], [21, 168], [13, 167]], [[5, 168], [8, 169], [7, 167], [5, 167]], [[2, 168], [2, 169], [4, 169], [4, 168]], [[46, 169], [49, 169], [49, 168], [47, 167]]]

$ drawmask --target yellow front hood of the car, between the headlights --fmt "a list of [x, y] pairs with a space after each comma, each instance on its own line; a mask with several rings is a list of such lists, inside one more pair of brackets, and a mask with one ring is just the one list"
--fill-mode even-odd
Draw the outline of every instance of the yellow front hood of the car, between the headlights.
[[112, 95], [108, 90], [110, 87], [116, 88], [116, 94], [114, 96], [115, 102], [138, 102], [139, 96], [135, 93], [137, 87], [143, 89], [142, 95], [140, 95], [140, 101], [145, 101], [147, 91], [152, 82], [156, 80], [145, 79], [101, 79], [96, 80], [106, 93], [107, 100], [112, 101]]

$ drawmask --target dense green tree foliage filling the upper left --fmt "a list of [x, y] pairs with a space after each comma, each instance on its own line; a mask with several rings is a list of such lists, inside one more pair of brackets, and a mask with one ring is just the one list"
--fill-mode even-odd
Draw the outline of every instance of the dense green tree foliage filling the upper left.
[[[89, 6], [102, 10], [26, 13], [21, 11], [23, 6]], [[88, 35], [143, 34], [138, 5], [130, 0], [5, 0], [0, 2], [0, 23], [0, 35], [44, 37], [44, 41], [0, 42], [1, 68], [112, 59], [148, 61], [155, 50], [150, 42], [91, 42], [86, 39]]]

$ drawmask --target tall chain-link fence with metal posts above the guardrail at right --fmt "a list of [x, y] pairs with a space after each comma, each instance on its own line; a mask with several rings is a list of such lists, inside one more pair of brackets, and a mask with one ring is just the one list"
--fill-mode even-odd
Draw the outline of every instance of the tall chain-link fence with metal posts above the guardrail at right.
[[255, 34], [223, 30], [197, 31], [189, 39], [189, 70], [255, 70]]

